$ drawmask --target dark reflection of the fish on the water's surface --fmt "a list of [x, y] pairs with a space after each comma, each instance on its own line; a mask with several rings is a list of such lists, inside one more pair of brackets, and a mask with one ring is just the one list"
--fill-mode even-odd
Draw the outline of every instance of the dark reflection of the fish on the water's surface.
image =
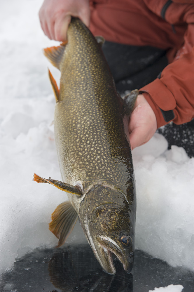
[[48, 270], [53, 285], [66, 292], [132, 292], [132, 274], [125, 273], [117, 261], [115, 266], [116, 275], [103, 272], [91, 248], [84, 245], [57, 251], [49, 261]]

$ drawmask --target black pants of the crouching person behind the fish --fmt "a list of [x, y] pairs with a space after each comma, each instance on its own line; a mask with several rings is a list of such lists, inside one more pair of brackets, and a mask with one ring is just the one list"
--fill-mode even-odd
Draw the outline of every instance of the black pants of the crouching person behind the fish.
[[[120, 94], [150, 83], [168, 65], [166, 51], [150, 46], [128, 46], [106, 41], [102, 50]], [[170, 123], [159, 128], [171, 145], [183, 147], [194, 157], [194, 120], [183, 125]]]

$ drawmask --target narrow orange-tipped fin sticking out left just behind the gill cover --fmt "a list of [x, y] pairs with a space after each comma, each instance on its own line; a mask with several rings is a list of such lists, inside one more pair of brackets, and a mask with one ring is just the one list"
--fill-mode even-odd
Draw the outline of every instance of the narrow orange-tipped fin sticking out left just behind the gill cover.
[[57, 189], [60, 189], [64, 192], [75, 194], [77, 196], [82, 196], [83, 192], [81, 188], [78, 185], [69, 185], [68, 183], [63, 183], [60, 180], [52, 180], [52, 178], [42, 178], [41, 176], [34, 173], [34, 179], [37, 183], [50, 183], [51, 185], [54, 185], [57, 187]]

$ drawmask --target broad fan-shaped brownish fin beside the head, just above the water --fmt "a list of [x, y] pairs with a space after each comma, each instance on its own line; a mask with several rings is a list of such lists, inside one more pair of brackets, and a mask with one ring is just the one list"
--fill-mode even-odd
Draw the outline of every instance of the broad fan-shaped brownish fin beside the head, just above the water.
[[78, 214], [70, 201], [60, 204], [51, 215], [52, 221], [49, 223], [49, 230], [59, 239], [61, 246], [66, 241], [78, 219]]

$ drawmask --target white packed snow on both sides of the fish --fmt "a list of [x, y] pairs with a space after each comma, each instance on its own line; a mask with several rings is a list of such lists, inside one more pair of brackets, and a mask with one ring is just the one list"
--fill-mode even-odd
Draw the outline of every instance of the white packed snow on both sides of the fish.
[[[47, 67], [57, 82], [60, 72], [42, 53], [42, 48], [58, 43], [41, 30], [40, 5], [39, 0], [1, 3], [0, 272], [33, 248], [57, 244], [48, 223], [57, 205], [67, 199], [57, 188], [32, 181], [34, 172], [61, 179], [52, 125], [55, 98]], [[167, 150], [159, 134], [135, 149], [133, 159], [136, 248], [194, 270], [194, 159], [182, 148]], [[76, 232], [85, 240], [77, 225], [69, 242]], [[181, 291], [174, 287], [158, 291]]]

